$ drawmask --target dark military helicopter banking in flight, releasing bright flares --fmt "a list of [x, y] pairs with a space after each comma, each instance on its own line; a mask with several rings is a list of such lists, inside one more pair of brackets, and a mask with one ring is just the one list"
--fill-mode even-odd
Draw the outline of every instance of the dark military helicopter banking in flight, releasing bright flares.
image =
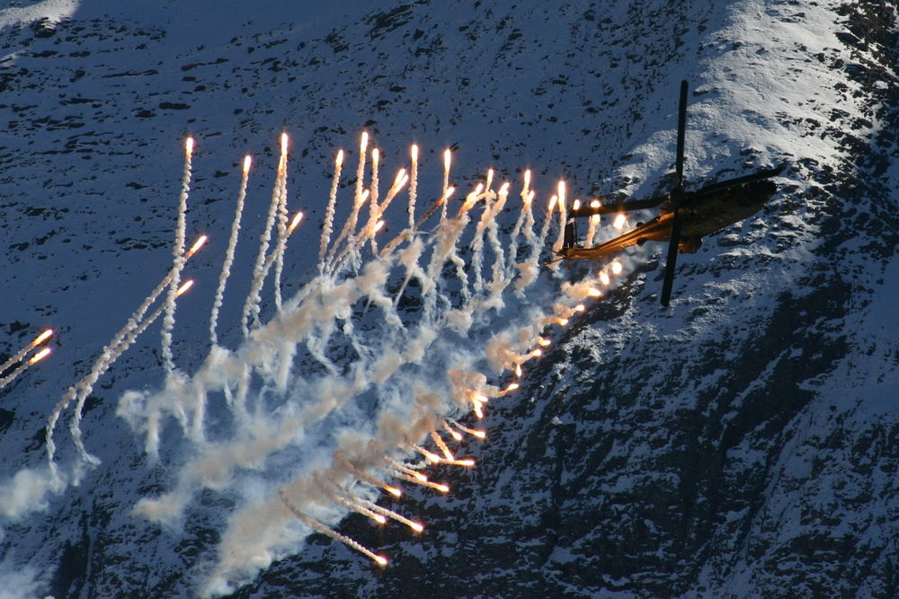
[[[666, 307], [671, 300], [678, 252], [694, 253], [702, 245], [703, 237], [718, 233], [725, 227], [738, 223], [761, 210], [761, 207], [778, 189], [770, 179], [783, 172], [787, 166], [780, 164], [775, 168], [761, 170], [743, 177], [711, 183], [696, 191], [685, 190], [683, 187], [683, 146], [687, 125], [687, 90], [687, 82], [681, 81], [674, 189], [670, 193], [654, 198], [605, 205], [594, 200], [576, 207], [568, 213], [562, 247], [557, 251], [557, 254], [565, 260], [602, 260], [631, 245], [667, 241], [668, 255], [665, 260], [661, 297], [662, 305]], [[584, 248], [575, 242], [577, 239], [575, 218], [654, 207], [659, 207], [658, 216], [646, 223], [638, 223], [633, 230], [608, 242], [591, 248]]]

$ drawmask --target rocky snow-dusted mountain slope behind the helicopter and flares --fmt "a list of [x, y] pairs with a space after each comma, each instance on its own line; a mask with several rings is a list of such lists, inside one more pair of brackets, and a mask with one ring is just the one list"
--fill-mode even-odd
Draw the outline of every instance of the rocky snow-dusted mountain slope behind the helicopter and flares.
[[[434, 469], [451, 495], [409, 486], [396, 503], [423, 535], [343, 521], [391, 566], [314, 534], [230, 584], [246, 596], [899, 594], [893, 5], [13, 4], [0, 9], [0, 349], [58, 329], [53, 356], [0, 392], [0, 579], [13, 594], [210, 590], [229, 518], [311, 460], [298, 446], [239, 491], [202, 489], [170, 524], [135, 515], [203, 451], [170, 418], [154, 461], [116, 415], [124, 392], [164, 385], [152, 329], [85, 404], [102, 463], [79, 461], [64, 412], [65, 482], [44, 486], [49, 414], [171, 264], [186, 134], [198, 147], [189, 235], [212, 240], [191, 259], [198, 286], [174, 330], [192, 374], [240, 162], [254, 154], [242, 234], [255, 240], [280, 131], [289, 206], [308, 219], [286, 254], [287, 297], [315, 269], [334, 151], [352, 163], [363, 128], [391, 172], [422, 147], [429, 201], [448, 145], [464, 189], [490, 166], [516, 186], [532, 168], [540, 221], [560, 178], [579, 197], [666, 189], [683, 78], [690, 187], [786, 162], [769, 206], [681, 256], [670, 310], [658, 307], [661, 249], [622, 258], [610, 297], [550, 330], [557, 342], [521, 390], [491, 402], [488, 440], [460, 452], [476, 469]], [[238, 245], [219, 329], [229, 348], [254, 251]], [[273, 313], [266, 297], [263, 321]]]

